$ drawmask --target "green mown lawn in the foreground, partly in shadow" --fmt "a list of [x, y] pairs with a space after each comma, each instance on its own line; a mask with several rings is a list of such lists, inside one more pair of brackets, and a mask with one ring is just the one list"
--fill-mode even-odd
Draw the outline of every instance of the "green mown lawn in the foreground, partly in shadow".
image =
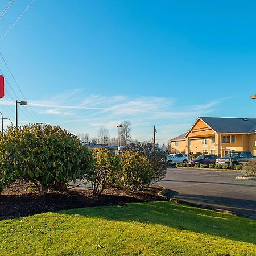
[[168, 201], [80, 208], [0, 221], [0, 251], [1, 255], [255, 255], [256, 221]]

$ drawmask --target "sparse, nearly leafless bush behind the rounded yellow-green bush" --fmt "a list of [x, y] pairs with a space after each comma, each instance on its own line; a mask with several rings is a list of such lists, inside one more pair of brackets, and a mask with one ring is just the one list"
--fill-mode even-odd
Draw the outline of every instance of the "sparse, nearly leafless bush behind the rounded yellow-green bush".
[[145, 156], [150, 162], [150, 168], [154, 172], [151, 183], [156, 183], [166, 176], [167, 164], [166, 153], [158, 147], [154, 147], [152, 143], [130, 143], [126, 146], [127, 150]]

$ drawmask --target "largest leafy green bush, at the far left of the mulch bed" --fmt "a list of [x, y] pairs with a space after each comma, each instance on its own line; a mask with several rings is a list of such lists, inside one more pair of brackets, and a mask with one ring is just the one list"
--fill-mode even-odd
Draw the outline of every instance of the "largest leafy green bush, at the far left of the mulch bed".
[[79, 138], [51, 125], [9, 127], [1, 137], [0, 164], [20, 181], [31, 181], [41, 195], [52, 186], [88, 177], [92, 157]]

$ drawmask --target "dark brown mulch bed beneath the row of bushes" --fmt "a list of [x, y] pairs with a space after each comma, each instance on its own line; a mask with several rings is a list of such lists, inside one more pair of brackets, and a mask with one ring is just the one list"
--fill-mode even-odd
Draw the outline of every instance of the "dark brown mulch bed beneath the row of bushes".
[[31, 188], [31, 184], [15, 183], [2, 192], [0, 195], [0, 220], [73, 208], [168, 200], [167, 197], [158, 195], [158, 192], [162, 190], [159, 186], [134, 193], [108, 188], [101, 196], [93, 195], [91, 189], [70, 189], [67, 192], [50, 191], [46, 195], [40, 196]]

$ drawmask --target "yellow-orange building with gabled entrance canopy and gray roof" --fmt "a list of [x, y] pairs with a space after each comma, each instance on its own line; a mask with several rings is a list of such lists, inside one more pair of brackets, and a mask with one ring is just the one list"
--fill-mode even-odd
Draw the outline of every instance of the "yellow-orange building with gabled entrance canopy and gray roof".
[[256, 155], [256, 118], [199, 117], [187, 133], [170, 140], [177, 152], [224, 156], [228, 151]]

